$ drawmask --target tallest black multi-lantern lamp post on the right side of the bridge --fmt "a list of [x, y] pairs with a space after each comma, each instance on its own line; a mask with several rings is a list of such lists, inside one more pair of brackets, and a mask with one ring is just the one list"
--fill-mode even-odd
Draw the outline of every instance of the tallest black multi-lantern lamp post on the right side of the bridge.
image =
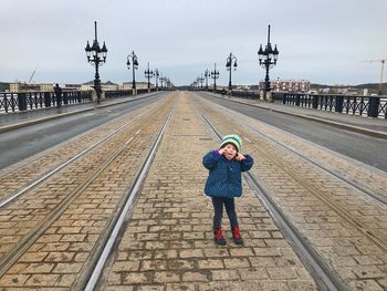
[[260, 65], [265, 69], [266, 75], [264, 77], [264, 89], [263, 89], [263, 100], [266, 101], [266, 94], [270, 92], [270, 79], [269, 79], [269, 70], [276, 65], [276, 60], [279, 58], [279, 50], [276, 49], [276, 44], [274, 50], [270, 43], [270, 25], [268, 30], [268, 44], [262, 50], [262, 44], [260, 44], [260, 50], [258, 51], [258, 58], [260, 59]]

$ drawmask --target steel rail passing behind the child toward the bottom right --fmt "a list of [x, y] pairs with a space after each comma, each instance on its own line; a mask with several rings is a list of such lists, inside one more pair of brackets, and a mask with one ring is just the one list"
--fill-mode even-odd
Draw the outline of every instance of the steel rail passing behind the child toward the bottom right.
[[[221, 135], [206, 117], [206, 115], [199, 112], [209, 127], [215, 132], [217, 137], [221, 141]], [[313, 247], [306, 241], [303, 235], [297, 228], [286, 218], [281, 208], [270, 197], [269, 191], [262, 185], [262, 183], [255, 178], [251, 173], [244, 173], [243, 178], [251, 187], [255, 196], [262, 200], [266, 209], [271, 212], [278, 227], [282, 230], [285, 237], [294, 246], [293, 250], [300, 256], [304, 266], [310, 270], [311, 276], [322, 290], [347, 290], [348, 288], [342, 281], [342, 279], [335, 274], [335, 272], [325, 263], [325, 261], [318, 256]]]

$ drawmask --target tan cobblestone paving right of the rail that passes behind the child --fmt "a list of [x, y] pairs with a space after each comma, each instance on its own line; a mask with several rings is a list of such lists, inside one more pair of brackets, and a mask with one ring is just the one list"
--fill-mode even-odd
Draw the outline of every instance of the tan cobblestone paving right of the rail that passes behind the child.
[[[222, 134], [229, 132], [232, 124], [233, 131], [248, 141], [244, 148], [255, 157], [251, 172], [260, 177], [286, 216], [308, 238], [331, 268], [354, 290], [386, 289], [386, 206], [301, 160], [294, 154], [286, 153], [262, 138], [251, 127], [240, 125], [240, 122], [284, 143], [292, 144], [291, 135], [236, 112], [228, 113], [227, 108], [213, 103], [206, 104], [206, 113]], [[314, 157], [324, 152], [303, 141], [297, 141], [296, 144], [302, 144], [300, 150], [306, 147], [307, 153]], [[386, 195], [385, 173], [373, 170], [368, 166], [362, 167], [362, 164], [352, 163], [351, 159], [341, 163], [343, 157], [330, 150], [325, 150], [322, 157], [324, 164], [345, 170], [346, 176], [354, 179], [364, 173], [367, 178], [360, 181]], [[374, 243], [374, 239], [381, 246]]]

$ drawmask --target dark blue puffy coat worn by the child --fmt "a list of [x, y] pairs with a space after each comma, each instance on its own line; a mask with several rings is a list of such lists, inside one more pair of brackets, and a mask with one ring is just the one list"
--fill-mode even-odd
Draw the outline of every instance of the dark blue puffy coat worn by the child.
[[245, 159], [228, 160], [218, 150], [203, 156], [202, 164], [209, 169], [205, 194], [210, 197], [234, 198], [242, 195], [241, 173], [251, 169], [254, 160], [244, 155]]

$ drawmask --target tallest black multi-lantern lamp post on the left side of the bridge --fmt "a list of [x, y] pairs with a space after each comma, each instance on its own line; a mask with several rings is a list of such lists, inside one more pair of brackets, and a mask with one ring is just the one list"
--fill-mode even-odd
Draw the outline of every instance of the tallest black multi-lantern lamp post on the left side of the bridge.
[[104, 42], [104, 45], [102, 45], [102, 49], [98, 43], [97, 39], [97, 30], [96, 30], [96, 21], [94, 21], [94, 31], [95, 31], [95, 38], [93, 41], [93, 45], [90, 46], [88, 41], [85, 48], [87, 62], [95, 66], [95, 76], [94, 76], [94, 90], [97, 95], [97, 103], [101, 102], [101, 80], [100, 80], [100, 66], [102, 66], [104, 63], [106, 63], [106, 44]]

